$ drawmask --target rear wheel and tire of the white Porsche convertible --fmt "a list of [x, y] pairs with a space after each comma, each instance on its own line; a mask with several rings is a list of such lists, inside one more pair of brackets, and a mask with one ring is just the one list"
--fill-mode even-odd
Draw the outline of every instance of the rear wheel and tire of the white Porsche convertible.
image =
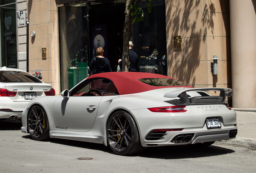
[[117, 111], [107, 121], [107, 144], [118, 155], [138, 154], [144, 150], [132, 116]]

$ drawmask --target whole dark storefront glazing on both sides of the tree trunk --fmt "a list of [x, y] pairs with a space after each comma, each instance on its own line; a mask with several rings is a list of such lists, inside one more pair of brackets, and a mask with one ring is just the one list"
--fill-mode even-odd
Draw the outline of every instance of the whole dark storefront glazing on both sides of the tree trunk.
[[[151, 13], [147, 12], [148, 2], [138, 4], [145, 16], [142, 22], [132, 24], [133, 50], [141, 72], [167, 75], [165, 0], [152, 0]], [[87, 67], [97, 46], [103, 47], [112, 71], [117, 70], [123, 52], [125, 5], [126, 1], [95, 0], [58, 8], [61, 90], [71, 89], [88, 76]]]

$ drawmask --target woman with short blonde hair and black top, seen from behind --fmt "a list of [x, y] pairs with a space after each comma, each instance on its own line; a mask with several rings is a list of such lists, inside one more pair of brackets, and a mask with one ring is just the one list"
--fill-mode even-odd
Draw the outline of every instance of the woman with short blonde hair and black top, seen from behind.
[[110, 62], [107, 58], [103, 56], [103, 52], [104, 50], [102, 47], [96, 49], [97, 56], [95, 58], [92, 58], [89, 67], [91, 71], [90, 76], [102, 72], [112, 72]]

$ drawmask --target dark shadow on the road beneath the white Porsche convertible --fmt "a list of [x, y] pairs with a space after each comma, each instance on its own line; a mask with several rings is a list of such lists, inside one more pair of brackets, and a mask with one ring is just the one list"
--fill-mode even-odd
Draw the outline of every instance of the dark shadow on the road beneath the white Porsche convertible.
[[[30, 135], [23, 136], [23, 138], [31, 139]], [[79, 147], [85, 149], [93, 149], [103, 151], [110, 154], [115, 154], [109, 147], [103, 144], [89, 143], [82, 141], [72, 141], [67, 139], [50, 139], [51, 143], [60, 145], [69, 145], [71, 147]], [[149, 147], [138, 155], [130, 155], [129, 157], [147, 157], [155, 159], [186, 159], [198, 157], [211, 157], [217, 155], [225, 155], [234, 153], [235, 151], [224, 147], [215, 146], [214, 144], [209, 147], [195, 147], [194, 145], [180, 145], [169, 147]]]

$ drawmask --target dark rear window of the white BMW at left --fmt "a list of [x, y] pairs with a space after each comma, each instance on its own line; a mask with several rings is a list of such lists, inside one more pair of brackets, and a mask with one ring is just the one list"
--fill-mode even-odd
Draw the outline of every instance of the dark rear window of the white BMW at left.
[[0, 71], [0, 82], [11, 83], [11, 82], [32, 82], [42, 83], [41, 80], [32, 76], [27, 72], [21, 71]]

